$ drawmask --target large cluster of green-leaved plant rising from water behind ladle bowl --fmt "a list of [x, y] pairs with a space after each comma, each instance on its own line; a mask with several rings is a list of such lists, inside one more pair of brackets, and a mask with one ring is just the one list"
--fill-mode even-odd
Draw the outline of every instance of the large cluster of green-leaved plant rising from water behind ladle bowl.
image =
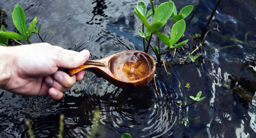
[[[150, 0], [152, 8], [147, 12], [147, 6], [143, 1], [139, 1], [137, 3], [137, 6], [135, 6], [134, 12], [136, 16], [141, 20], [142, 24], [142, 30], [138, 30], [139, 36], [143, 38], [143, 46], [144, 51], [148, 52], [149, 47], [152, 48], [154, 51], [157, 61], [161, 61], [161, 55], [169, 52], [171, 49], [176, 49], [184, 46], [186, 43], [188, 43], [188, 39], [184, 40], [180, 43], [176, 42], [180, 40], [182, 37], [185, 29], [186, 29], [186, 23], [183, 19], [189, 16], [189, 14], [193, 10], [192, 5], [188, 5], [183, 7], [179, 14], [177, 14], [177, 9], [174, 5], [174, 2], [171, 0], [169, 2], [164, 2], [160, 4], [158, 7], [154, 6], [154, 1]], [[147, 14], [146, 14], [147, 13]], [[153, 14], [153, 20], [152, 25], [150, 25], [147, 21], [147, 18], [149, 18]], [[167, 23], [167, 20], [171, 17], [172, 20], [175, 22], [171, 29], [170, 38], [166, 36], [164, 33], [158, 32], [161, 28], [165, 26]], [[144, 32], [144, 26], [147, 27], [146, 32]], [[150, 42], [152, 40], [153, 33], [155, 33], [158, 37], [158, 45], [155, 45], [153, 47], [150, 45]], [[149, 38], [149, 40], [147, 40]], [[147, 41], [147, 46], [145, 45], [145, 40]], [[166, 46], [169, 48], [161, 52], [161, 46], [160, 41], [161, 40]]]

